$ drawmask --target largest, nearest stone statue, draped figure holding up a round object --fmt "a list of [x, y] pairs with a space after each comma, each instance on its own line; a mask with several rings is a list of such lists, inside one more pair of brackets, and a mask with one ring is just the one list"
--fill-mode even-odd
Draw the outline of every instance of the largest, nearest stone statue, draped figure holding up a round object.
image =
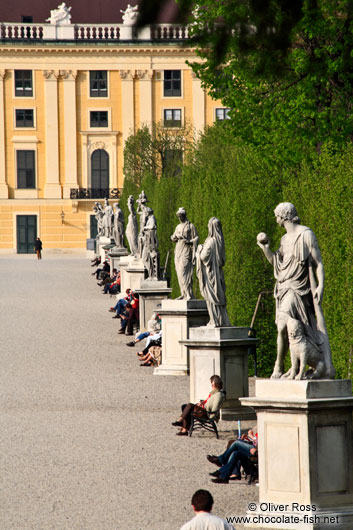
[[[300, 374], [300, 378], [326, 378], [335, 377], [332, 365], [330, 343], [327, 335], [325, 319], [322, 311], [322, 297], [324, 294], [324, 266], [315, 234], [307, 226], [300, 224], [297, 211], [290, 202], [283, 202], [274, 211], [277, 223], [286, 230], [281, 239], [277, 252], [270, 250], [266, 234], [257, 236], [257, 244], [263, 250], [266, 258], [274, 267], [276, 278], [276, 324], [278, 329], [277, 359], [272, 378], [281, 376], [293, 378]], [[308, 344], [311, 349], [316, 349], [324, 361], [325, 369], [318, 366], [317, 358], [308, 364], [313, 366], [306, 374], [294, 370], [284, 371], [284, 357], [289, 348], [288, 322], [289, 318], [299, 321], [300, 329], [304, 331], [305, 340], [300, 348], [305, 348], [303, 359], [307, 356], [314, 358], [311, 351], [309, 355]], [[290, 325], [292, 333], [292, 324]], [[296, 326], [297, 335], [299, 333]], [[296, 355], [298, 355], [298, 350]], [[301, 354], [299, 354], [301, 355]], [[316, 354], [317, 357], [317, 354]]]

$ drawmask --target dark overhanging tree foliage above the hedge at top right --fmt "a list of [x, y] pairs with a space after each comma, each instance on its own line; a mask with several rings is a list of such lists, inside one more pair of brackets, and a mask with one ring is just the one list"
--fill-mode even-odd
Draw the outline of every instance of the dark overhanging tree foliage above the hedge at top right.
[[278, 166], [301, 163], [327, 140], [344, 145], [352, 137], [351, 0], [194, 4], [203, 60], [192, 66], [232, 109], [236, 136], [261, 146]]

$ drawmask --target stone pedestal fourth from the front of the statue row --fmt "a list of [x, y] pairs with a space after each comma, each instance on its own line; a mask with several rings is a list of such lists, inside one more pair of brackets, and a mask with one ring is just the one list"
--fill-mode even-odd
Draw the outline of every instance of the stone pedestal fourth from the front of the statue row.
[[152, 313], [161, 309], [162, 300], [168, 298], [172, 290], [166, 281], [144, 280], [136, 292], [140, 295], [140, 331], [146, 331]]

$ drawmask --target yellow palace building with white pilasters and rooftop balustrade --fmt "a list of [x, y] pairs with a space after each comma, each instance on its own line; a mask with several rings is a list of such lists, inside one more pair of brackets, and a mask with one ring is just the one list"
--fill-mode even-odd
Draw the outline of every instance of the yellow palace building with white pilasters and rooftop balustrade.
[[119, 196], [133, 131], [227, 117], [186, 64], [187, 29], [136, 36], [126, 11], [122, 24], [78, 24], [63, 6], [0, 23], [0, 252], [32, 253], [37, 236], [47, 252], [84, 250], [94, 201]]

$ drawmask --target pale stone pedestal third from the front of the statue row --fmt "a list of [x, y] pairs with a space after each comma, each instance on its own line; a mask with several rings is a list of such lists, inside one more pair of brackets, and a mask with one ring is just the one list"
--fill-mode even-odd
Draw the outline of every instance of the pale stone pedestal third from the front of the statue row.
[[204, 326], [209, 320], [204, 300], [162, 300], [162, 364], [154, 375], [186, 375], [189, 371], [187, 348], [180, 341], [189, 338], [192, 327]]

